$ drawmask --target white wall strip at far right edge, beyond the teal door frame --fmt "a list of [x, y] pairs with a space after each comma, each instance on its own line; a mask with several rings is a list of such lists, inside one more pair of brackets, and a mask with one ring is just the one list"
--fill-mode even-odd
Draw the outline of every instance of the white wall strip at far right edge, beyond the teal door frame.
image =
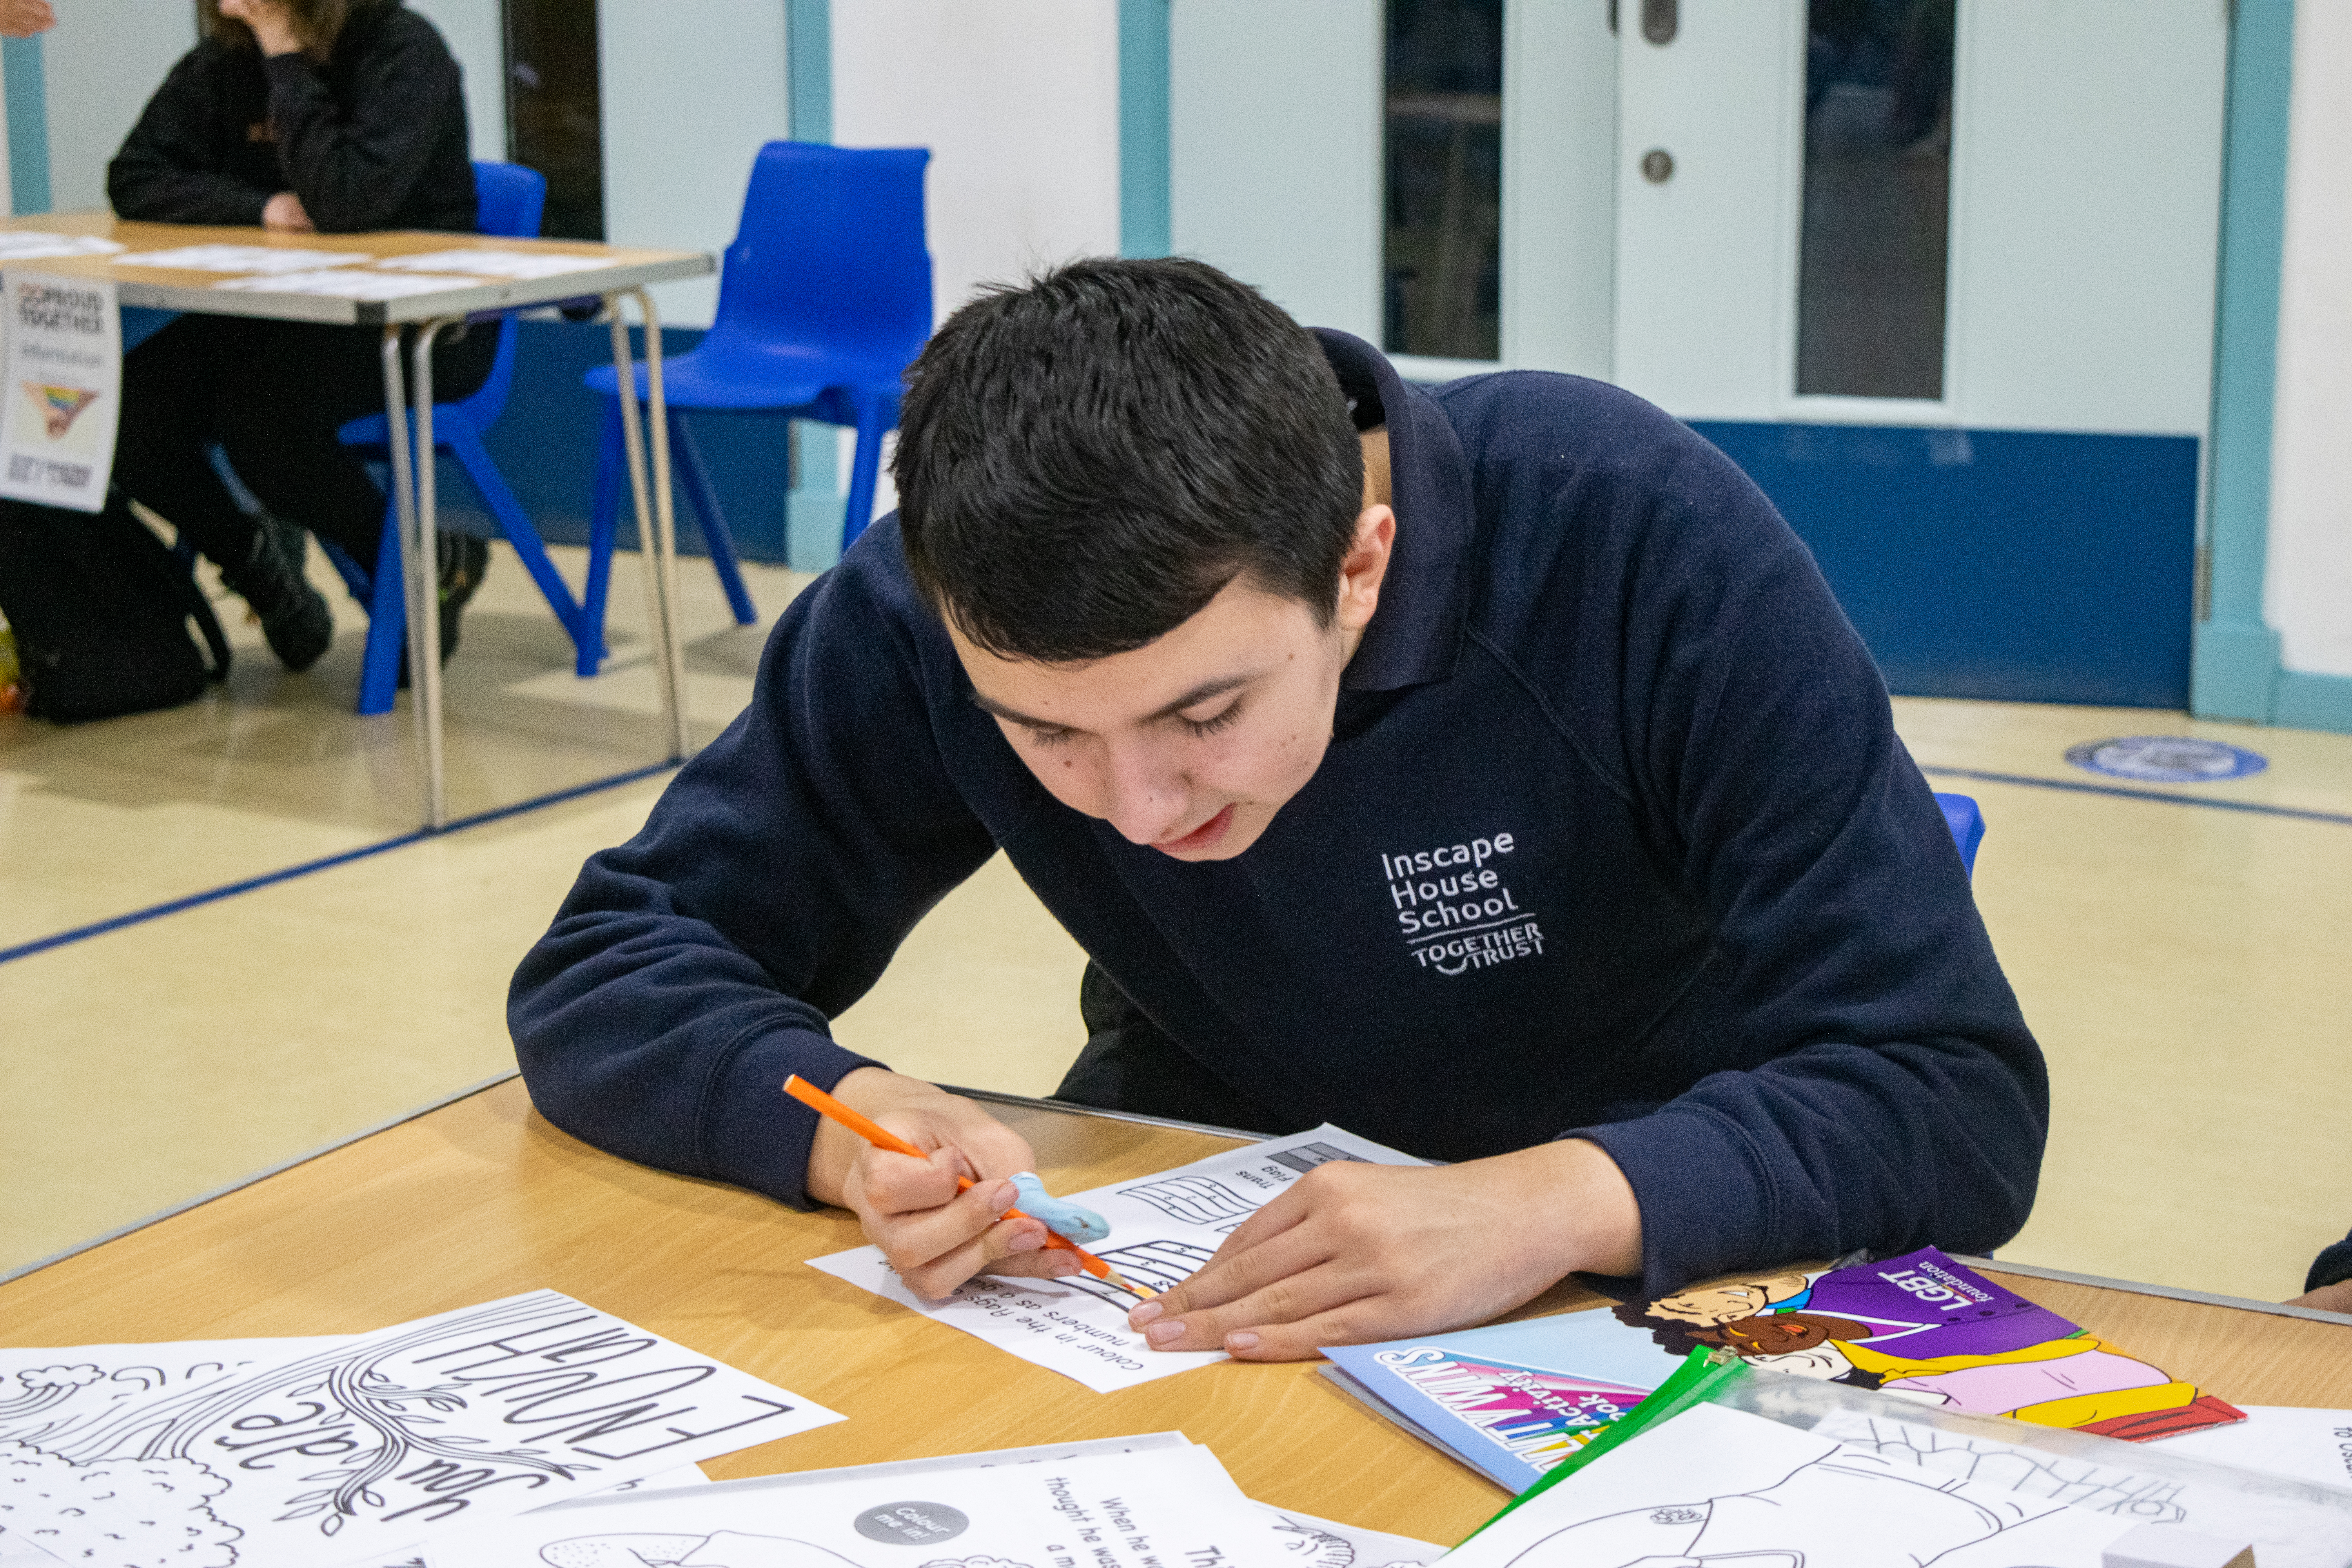
[[2296, 7], [2263, 614], [2279, 661], [2352, 675], [2352, 7]]

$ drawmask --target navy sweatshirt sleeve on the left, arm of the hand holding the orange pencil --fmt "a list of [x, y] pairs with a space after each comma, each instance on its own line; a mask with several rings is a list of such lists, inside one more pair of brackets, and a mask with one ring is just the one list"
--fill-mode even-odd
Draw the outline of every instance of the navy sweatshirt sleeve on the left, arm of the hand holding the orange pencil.
[[567, 1133], [809, 1204], [816, 1117], [783, 1079], [833, 1088], [877, 1065], [833, 1044], [828, 1018], [995, 851], [934, 741], [927, 611], [877, 569], [896, 550], [875, 524], [793, 602], [750, 708], [635, 839], [588, 860], [515, 971], [515, 1056]]

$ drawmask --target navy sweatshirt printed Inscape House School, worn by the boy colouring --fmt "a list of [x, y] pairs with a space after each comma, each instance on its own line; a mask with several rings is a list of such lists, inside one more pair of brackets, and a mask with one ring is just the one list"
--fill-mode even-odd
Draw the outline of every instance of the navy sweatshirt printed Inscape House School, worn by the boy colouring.
[[[1886, 691], [1719, 451], [1597, 381], [1406, 388], [1322, 769], [1232, 860], [1054, 802], [875, 524], [750, 708], [588, 860], [510, 1025], [557, 1126], [804, 1204], [826, 1020], [1002, 849], [1214, 1077], [1432, 1159], [1590, 1138], [1639, 1293], [2025, 1222], [2049, 1088]], [[983, 1074], [985, 1077], [985, 1074]], [[1541, 1201], [1541, 1197], [1536, 1197]]]

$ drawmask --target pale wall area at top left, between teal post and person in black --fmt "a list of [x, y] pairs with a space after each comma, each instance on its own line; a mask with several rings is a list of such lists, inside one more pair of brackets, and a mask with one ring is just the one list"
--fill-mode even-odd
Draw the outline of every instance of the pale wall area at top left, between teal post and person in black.
[[59, 0], [40, 40], [54, 212], [106, 207], [106, 165], [193, 47], [188, 0]]

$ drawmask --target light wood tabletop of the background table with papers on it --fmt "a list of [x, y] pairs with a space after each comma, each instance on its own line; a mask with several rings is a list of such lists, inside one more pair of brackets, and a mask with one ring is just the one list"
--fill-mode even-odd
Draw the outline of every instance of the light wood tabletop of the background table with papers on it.
[[[282, 228], [136, 223], [118, 219], [111, 212], [52, 212], [28, 219], [0, 219], [0, 233], [7, 230], [78, 235], [120, 244], [120, 252], [103, 256], [24, 256], [21, 261], [7, 261], [7, 266], [66, 273], [75, 277], [106, 277], [115, 284], [118, 299], [125, 306], [365, 327], [428, 320], [437, 315], [470, 315], [475, 310], [510, 310], [586, 294], [612, 294], [675, 277], [703, 277], [715, 268], [715, 261], [706, 252], [600, 244], [593, 240], [515, 240], [503, 235], [440, 230], [303, 235]], [[452, 284], [430, 294], [407, 294], [397, 299], [339, 299], [245, 287], [223, 289], [223, 282], [242, 282], [240, 275], [200, 268], [141, 266], [136, 261], [141, 254], [181, 252], [195, 244], [332, 252], [336, 256], [367, 256], [372, 261], [397, 261], [402, 256], [433, 256], [442, 252], [524, 252], [532, 256], [576, 256], [581, 261], [595, 261], [597, 266], [550, 277], [468, 275], [463, 266], [447, 266], [437, 275], [452, 277]]]

